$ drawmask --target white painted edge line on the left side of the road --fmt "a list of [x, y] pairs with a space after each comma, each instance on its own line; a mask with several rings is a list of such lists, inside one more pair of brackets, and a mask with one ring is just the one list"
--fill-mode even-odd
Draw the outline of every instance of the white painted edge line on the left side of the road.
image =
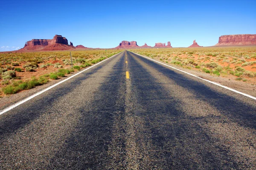
[[[119, 53], [113, 55], [112, 57], [114, 57], [114, 56], [116, 56], [116, 55], [118, 55], [118, 54], [120, 54], [120, 53], [121, 53], [121, 52], [119, 52]], [[112, 58], [112, 57], [110, 57], [110, 58]], [[11, 106], [9, 106], [9, 107], [7, 107], [7, 108], [1, 110], [1, 111], [0, 111], [0, 115], [2, 115], [3, 113], [8, 112], [9, 110], [11, 110], [11, 109], [13, 109], [13, 108], [19, 106], [20, 104], [25, 103], [26, 101], [29, 101], [30, 99], [32, 99], [32, 98], [34, 98], [34, 97], [36, 97], [36, 96], [38, 96], [38, 95], [41, 95], [43, 92], [46, 92], [47, 90], [52, 89], [53, 87], [58, 86], [58, 85], [61, 84], [61, 83], [64, 83], [65, 81], [69, 80], [70, 78], [73, 78], [73, 77], [75, 77], [76, 75], [79, 75], [79, 74], [81, 74], [82, 72], [84, 72], [84, 71], [86, 71], [86, 70], [88, 70], [88, 69], [90, 69], [90, 68], [93, 68], [94, 66], [97, 66], [98, 64], [100, 64], [100, 63], [102, 63], [102, 62], [104, 62], [104, 61], [107, 61], [107, 60], [110, 59], [110, 58], [107, 58], [107, 59], [105, 59], [105, 60], [103, 60], [103, 61], [101, 61], [101, 62], [99, 62], [99, 63], [96, 63], [96, 64], [94, 64], [93, 66], [90, 66], [89, 68], [84, 69], [84, 70], [82, 70], [82, 71], [76, 73], [75, 75], [72, 75], [72, 76], [70, 76], [69, 78], [64, 79], [63, 81], [60, 81], [60, 82], [58, 82], [58, 83], [56, 83], [56, 84], [53, 84], [52, 86], [49, 86], [49, 87], [47, 87], [46, 89], [44, 89], [44, 90], [42, 90], [42, 91], [40, 91], [40, 92], [37, 92], [37, 93], [35, 93], [34, 95], [32, 95], [32, 96], [30, 96], [30, 97], [28, 97], [28, 98], [25, 98], [25, 99], [23, 99], [22, 101], [19, 101], [18, 103], [15, 103], [15, 104], [13, 104], [13, 105], [11, 105]]]

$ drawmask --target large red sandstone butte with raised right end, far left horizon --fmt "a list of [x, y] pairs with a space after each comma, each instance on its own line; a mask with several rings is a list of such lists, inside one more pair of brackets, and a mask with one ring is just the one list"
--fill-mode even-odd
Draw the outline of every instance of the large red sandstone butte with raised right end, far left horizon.
[[26, 50], [69, 50], [75, 49], [73, 43], [68, 44], [67, 38], [55, 35], [53, 39], [32, 39], [25, 43], [20, 51]]

